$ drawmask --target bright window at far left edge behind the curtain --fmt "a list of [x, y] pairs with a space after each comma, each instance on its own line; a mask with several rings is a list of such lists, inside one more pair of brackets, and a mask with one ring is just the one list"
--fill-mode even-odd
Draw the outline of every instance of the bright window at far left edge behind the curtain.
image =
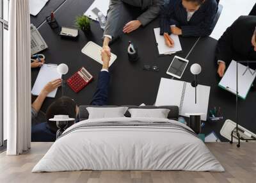
[[7, 59], [9, 0], [0, 0], [0, 146], [6, 136], [6, 123], [3, 122], [3, 64]]

